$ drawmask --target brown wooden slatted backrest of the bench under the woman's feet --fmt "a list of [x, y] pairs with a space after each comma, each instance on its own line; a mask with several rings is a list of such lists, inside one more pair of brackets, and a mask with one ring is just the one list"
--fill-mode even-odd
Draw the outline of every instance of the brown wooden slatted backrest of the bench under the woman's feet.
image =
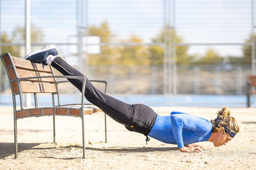
[[[22, 93], [56, 93], [57, 88], [54, 78], [40, 78], [40, 76], [54, 76], [51, 67], [32, 63], [29, 60], [12, 57], [10, 53], [1, 55], [6, 73], [10, 81], [13, 94]], [[26, 80], [20, 78], [36, 77]]]

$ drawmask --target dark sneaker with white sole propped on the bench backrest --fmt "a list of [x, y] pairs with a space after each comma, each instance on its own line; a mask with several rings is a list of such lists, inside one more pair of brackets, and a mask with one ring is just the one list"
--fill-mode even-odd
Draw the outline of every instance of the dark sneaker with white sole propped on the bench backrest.
[[48, 65], [46, 63], [46, 58], [48, 55], [58, 55], [57, 49], [55, 45], [47, 45], [41, 48], [41, 50], [37, 50], [35, 52], [31, 52], [24, 57], [26, 60], [30, 60], [31, 62], [42, 63], [43, 65]]

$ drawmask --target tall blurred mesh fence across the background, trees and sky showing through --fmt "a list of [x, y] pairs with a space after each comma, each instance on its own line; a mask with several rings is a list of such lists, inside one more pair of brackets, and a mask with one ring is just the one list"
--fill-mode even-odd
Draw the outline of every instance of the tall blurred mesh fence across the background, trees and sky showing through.
[[[1, 52], [25, 55], [24, 4], [0, 0]], [[254, 5], [31, 1], [31, 49], [56, 44], [88, 78], [108, 80], [111, 94], [243, 95], [255, 64]], [[3, 64], [0, 69], [0, 91], [10, 93]]]

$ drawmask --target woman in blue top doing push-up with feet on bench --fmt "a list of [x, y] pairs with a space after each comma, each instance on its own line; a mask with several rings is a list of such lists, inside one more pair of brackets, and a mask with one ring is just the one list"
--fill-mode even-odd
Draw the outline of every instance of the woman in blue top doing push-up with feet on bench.
[[[50, 64], [63, 75], [84, 76], [58, 57], [54, 45], [29, 53], [24, 59]], [[82, 90], [81, 80], [68, 80]], [[226, 145], [239, 132], [239, 125], [230, 116], [228, 108], [218, 111], [217, 118], [211, 121], [178, 111], [172, 111], [170, 116], [161, 116], [143, 104], [127, 104], [100, 92], [88, 79], [84, 96], [129, 131], [147, 136], [146, 141], [149, 141], [150, 136], [164, 143], [177, 144], [180, 152], [203, 152], [202, 146], [190, 145], [199, 141], [210, 141], [216, 147]]]

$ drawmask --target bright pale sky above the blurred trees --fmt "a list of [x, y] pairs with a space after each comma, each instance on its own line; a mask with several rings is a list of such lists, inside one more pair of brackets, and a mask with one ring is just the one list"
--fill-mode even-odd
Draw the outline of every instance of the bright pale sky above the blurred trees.
[[[1, 1], [1, 31], [24, 25], [24, 0]], [[255, 1], [255, 0], [253, 0]], [[79, 4], [81, 5], [81, 4]], [[167, 0], [88, 0], [88, 25], [108, 21], [117, 39], [136, 34], [149, 43], [164, 25]], [[176, 0], [170, 20], [184, 43], [244, 43], [252, 29], [251, 0]], [[76, 34], [76, 1], [31, 0], [31, 23], [40, 28], [47, 43], [66, 43]], [[207, 46], [209, 47], [209, 46]], [[222, 55], [241, 55], [242, 46], [211, 46]], [[190, 46], [204, 53], [205, 46]]]

